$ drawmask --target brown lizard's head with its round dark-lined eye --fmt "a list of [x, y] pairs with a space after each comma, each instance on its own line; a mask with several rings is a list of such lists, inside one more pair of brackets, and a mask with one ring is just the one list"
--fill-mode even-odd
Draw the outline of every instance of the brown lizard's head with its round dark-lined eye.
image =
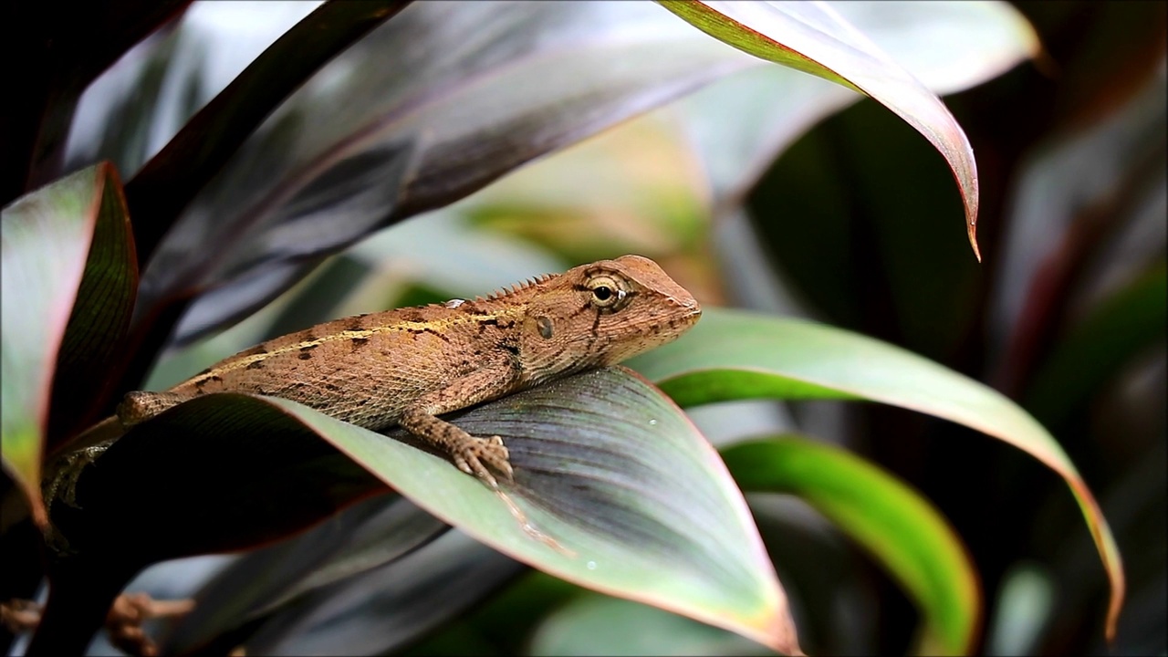
[[580, 265], [544, 285], [523, 323], [533, 374], [620, 362], [673, 341], [702, 316], [693, 295], [641, 256]]

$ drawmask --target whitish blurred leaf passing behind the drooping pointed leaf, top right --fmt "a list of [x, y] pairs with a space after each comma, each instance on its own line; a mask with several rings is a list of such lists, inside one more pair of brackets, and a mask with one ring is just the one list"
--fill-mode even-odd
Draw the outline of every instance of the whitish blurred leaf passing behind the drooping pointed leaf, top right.
[[[1034, 28], [1008, 2], [853, 0], [833, 2], [832, 8], [934, 94], [981, 84], [1040, 49]], [[757, 67], [726, 76], [670, 109], [701, 153], [715, 202], [735, 203], [800, 134], [861, 98], [797, 70]]]

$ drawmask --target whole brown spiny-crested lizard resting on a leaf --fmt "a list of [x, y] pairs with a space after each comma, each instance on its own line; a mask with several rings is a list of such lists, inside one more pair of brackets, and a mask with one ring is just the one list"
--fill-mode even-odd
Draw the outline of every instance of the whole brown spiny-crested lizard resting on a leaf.
[[496, 487], [512, 477], [499, 436], [438, 415], [669, 343], [701, 316], [693, 295], [641, 256], [584, 264], [474, 300], [360, 314], [274, 338], [169, 390], [128, 393], [123, 429], [200, 395], [298, 401], [381, 430], [398, 424]]

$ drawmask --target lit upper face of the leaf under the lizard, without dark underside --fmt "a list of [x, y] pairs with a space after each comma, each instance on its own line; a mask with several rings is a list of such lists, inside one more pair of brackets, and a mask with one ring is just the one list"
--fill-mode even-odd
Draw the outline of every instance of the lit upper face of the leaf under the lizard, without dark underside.
[[623, 368], [454, 415], [472, 435], [503, 437], [515, 466], [503, 487], [526, 521], [444, 458], [272, 402], [423, 509], [519, 561], [799, 651], [774, 570], [717, 454]]

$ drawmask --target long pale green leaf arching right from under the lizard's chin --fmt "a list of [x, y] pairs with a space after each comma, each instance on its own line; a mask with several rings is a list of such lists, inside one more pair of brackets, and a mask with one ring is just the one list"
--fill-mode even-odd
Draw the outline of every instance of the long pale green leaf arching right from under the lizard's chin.
[[1033, 455], [1075, 495], [1111, 580], [1107, 635], [1124, 601], [1111, 528], [1066, 452], [993, 388], [892, 345], [809, 321], [707, 310], [681, 340], [630, 361], [681, 406], [750, 397], [863, 399], [965, 424]]

